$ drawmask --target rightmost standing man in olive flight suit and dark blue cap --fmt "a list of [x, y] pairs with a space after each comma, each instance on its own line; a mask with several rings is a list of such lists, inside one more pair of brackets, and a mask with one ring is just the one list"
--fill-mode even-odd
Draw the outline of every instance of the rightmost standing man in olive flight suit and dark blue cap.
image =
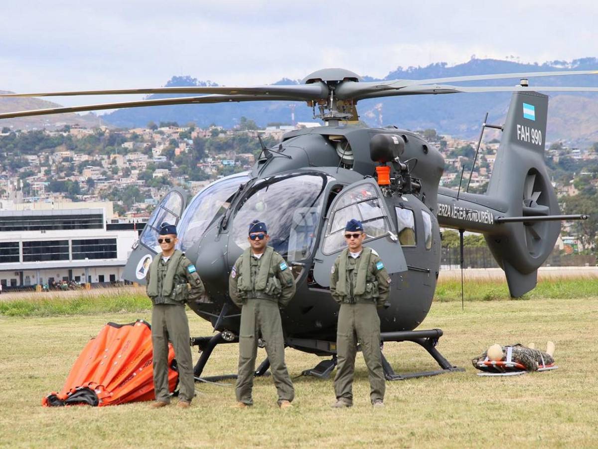
[[361, 344], [370, 377], [370, 399], [374, 407], [384, 406], [386, 389], [380, 353], [381, 308], [389, 298], [390, 277], [376, 251], [362, 246], [366, 238], [358, 220], [345, 227], [347, 246], [334, 262], [330, 275], [330, 293], [340, 304], [337, 325], [337, 373], [334, 408], [353, 405], [353, 371], [357, 342]]

